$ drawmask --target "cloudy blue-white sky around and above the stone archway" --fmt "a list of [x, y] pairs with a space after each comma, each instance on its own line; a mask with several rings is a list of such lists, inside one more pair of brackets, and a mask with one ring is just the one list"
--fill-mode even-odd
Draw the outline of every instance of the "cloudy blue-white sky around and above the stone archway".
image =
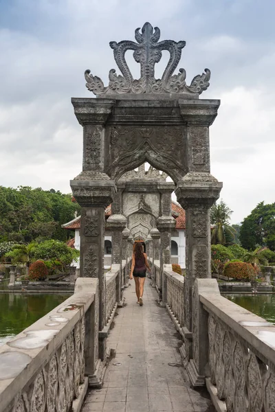
[[201, 98], [221, 99], [212, 174], [232, 222], [274, 202], [274, 15], [274, 0], [0, 0], [0, 184], [70, 192], [82, 164], [70, 98], [93, 97], [85, 69], [107, 83], [109, 41], [133, 40], [150, 21], [162, 40], [186, 41], [188, 82], [212, 72]]

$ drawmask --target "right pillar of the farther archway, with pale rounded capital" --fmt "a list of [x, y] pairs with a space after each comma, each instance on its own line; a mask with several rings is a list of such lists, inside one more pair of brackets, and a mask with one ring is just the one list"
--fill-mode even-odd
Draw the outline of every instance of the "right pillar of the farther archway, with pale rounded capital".
[[157, 229], [160, 232], [160, 273], [162, 283], [162, 304], [167, 303], [167, 278], [164, 276], [165, 264], [170, 264], [171, 258], [171, 231], [175, 229], [176, 221], [172, 216], [160, 216], [157, 219]]

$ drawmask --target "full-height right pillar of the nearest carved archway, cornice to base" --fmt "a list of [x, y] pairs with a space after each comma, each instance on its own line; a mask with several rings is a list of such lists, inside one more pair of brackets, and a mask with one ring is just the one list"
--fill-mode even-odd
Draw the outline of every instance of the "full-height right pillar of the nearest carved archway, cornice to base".
[[[210, 174], [209, 126], [219, 100], [192, 105], [179, 102], [186, 124], [183, 141], [186, 174], [177, 182], [177, 201], [186, 210], [186, 277], [184, 279], [184, 364], [192, 358], [192, 287], [196, 278], [211, 277], [210, 207], [219, 198], [222, 183]], [[197, 344], [197, 343], [195, 343]], [[193, 381], [194, 379], [192, 379]]]

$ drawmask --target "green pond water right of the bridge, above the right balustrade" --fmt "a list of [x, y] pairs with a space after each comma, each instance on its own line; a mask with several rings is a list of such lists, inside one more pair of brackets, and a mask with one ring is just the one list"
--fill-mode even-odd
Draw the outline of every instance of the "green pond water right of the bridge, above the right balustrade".
[[223, 296], [275, 324], [275, 295], [260, 295], [256, 293], [254, 295], [239, 295], [236, 293], [226, 293]]

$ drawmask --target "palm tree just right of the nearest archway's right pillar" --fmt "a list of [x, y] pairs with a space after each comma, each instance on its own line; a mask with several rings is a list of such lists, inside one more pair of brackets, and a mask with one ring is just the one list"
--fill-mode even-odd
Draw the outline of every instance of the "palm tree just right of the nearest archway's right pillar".
[[219, 204], [214, 203], [210, 210], [210, 222], [212, 225], [212, 244], [225, 244], [234, 239], [236, 230], [230, 226], [232, 210], [225, 205], [223, 200]]

